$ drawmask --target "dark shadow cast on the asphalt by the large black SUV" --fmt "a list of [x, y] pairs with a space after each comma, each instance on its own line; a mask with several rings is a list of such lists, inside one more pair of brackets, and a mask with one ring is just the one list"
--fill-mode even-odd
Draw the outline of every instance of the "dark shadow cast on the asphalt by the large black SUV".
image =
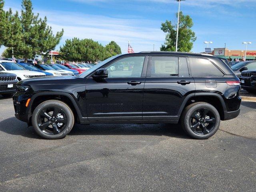
[[[0, 132], [42, 139], [32, 126], [28, 127], [15, 117], [0, 121]], [[75, 124], [69, 135], [154, 135], [190, 138], [178, 124]]]

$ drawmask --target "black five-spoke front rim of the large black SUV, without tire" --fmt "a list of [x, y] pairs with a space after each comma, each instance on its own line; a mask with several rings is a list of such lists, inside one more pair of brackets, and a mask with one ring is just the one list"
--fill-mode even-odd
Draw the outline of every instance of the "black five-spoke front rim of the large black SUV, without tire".
[[37, 123], [42, 132], [56, 135], [65, 130], [68, 118], [61, 108], [49, 106], [40, 110]]

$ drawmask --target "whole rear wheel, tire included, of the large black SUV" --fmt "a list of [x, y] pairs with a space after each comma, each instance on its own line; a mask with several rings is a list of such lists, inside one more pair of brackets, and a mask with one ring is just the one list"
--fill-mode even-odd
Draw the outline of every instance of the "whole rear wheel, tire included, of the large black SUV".
[[180, 122], [184, 131], [192, 138], [208, 139], [220, 126], [220, 114], [211, 104], [196, 102], [184, 109]]

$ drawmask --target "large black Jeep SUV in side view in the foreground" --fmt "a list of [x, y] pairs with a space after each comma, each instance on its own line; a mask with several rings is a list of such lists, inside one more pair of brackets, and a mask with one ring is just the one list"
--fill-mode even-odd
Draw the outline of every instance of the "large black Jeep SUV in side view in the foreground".
[[[124, 69], [110, 70], [117, 63]], [[214, 56], [140, 52], [109, 58], [79, 77], [22, 80], [13, 102], [16, 118], [48, 139], [65, 137], [75, 122], [180, 122], [191, 137], [205, 139], [220, 120], [238, 116], [240, 89], [234, 72]]]

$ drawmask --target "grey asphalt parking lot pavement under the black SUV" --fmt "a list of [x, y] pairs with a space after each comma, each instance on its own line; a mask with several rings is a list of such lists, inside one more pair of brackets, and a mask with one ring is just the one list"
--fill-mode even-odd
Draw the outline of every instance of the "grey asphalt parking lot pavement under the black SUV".
[[0, 191], [255, 192], [256, 102], [208, 140], [167, 124], [76, 125], [43, 140], [0, 98]]

